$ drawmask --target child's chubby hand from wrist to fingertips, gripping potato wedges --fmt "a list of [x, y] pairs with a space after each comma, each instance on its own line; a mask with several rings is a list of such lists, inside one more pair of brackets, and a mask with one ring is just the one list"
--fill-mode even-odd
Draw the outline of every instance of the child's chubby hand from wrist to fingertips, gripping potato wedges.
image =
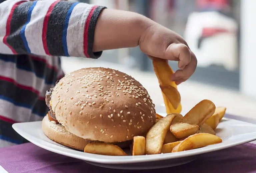
[[144, 31], [139, 46], [150, 58], [178, 61], [180, 70], [171, 79], [177, 85], [186, 81], [196, 70], [197, 59], [183, 38], [159, 24], [153, 24]]

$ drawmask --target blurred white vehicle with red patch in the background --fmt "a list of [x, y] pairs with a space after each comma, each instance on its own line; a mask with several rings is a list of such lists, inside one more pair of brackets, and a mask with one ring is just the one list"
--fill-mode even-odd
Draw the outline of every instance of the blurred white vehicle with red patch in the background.
[[238, 24], [218, 11], [193, 12], [189, 15], [184, 39], [198, 59], [198, 66], [238, 68]]

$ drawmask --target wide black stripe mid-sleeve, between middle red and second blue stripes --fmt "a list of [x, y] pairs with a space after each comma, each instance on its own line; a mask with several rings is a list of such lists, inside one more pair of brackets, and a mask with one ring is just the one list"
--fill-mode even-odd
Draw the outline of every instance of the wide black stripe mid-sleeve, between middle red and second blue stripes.
[[73, 3], [74, 2], [60, 1], [55, 5], [49, 17], [46, 40], [47, 48], [51, 55], [65, 55], [62, 43], [63, 27], [68, 10]]

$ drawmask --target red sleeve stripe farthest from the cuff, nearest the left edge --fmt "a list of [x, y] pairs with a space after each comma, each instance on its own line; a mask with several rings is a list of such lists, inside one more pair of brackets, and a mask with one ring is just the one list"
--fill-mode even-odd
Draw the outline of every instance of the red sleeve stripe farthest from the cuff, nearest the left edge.
[[12, 6], [11, 12], [10, 12], [10, 14], [7, 18], [7, 22], [6, 22], [6, 34], [3, 38], [3, 43], [11, 49], [13, 54], [17, 54], [17, 52], [7, 43], [7, 37], [10, 35], [10, 32], [11, 32], [11, 21], [12, 21], [13, 12], [14, 12], [15, 8], [18, 7], [23, 2], [27, 2], [27, 1], [19, 1]]

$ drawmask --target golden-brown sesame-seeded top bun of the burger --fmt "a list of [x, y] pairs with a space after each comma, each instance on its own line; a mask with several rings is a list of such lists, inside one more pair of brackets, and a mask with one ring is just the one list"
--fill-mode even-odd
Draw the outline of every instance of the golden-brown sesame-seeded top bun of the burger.
[[122, 142], [144, 135], [156, 119], [147, 90], [106, 68], [74, 71], [54, 87], [52, 109], [65, 128], [84, 139]]

